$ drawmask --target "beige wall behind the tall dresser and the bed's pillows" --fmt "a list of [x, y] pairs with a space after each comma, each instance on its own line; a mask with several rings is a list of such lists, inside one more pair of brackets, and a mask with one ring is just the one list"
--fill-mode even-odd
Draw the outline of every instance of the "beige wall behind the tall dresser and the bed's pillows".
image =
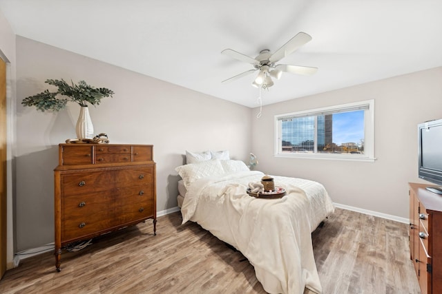
[[[122, 56], [124, 58], [124, 56]], [[17, 248], [53, 241], [53, 169], [57, 145], [75, 138], [79, 106], [58, 113], [23, 107], [23, 98], [47, 88], [47, 78], [85, 80], [108, 87], [113, 98], [90, 108], [95, 133], [111, 143], [153, 144], [157, 211], [177, 206], [175, 167], [185, 150], [229, 150], [246, 160], [251, 109], [155, 78], [17, 36]]]

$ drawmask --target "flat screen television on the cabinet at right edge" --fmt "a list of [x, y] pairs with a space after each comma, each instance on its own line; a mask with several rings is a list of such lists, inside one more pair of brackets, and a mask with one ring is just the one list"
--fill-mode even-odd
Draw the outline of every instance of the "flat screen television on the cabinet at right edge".
[[[418, 125], [419, 178], [442, 185], [442, 119]], [[428, 191], [442, 194], [442, 187], [427, 187]]]

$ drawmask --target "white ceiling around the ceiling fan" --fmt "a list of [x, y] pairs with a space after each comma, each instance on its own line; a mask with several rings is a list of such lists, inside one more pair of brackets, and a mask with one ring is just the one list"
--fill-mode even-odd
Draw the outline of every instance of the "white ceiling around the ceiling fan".
[[[440, 0], [0, 0], [17, 35], [248, 107], [253, 67], [220, 54], [256, 57], [298, 32], [312, 40], [280, 63], [264, 105], [442, 65]], [[48, 77], [54, 78], [54, 77]]]

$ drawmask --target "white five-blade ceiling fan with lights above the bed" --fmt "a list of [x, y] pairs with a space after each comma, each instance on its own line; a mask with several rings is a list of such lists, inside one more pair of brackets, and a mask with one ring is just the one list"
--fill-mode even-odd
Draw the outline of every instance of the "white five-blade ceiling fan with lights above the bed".
[[271, 78], [280, 79], [282, 72], [305, 75], [314, 74], [318, 70], [317, 67], [276, 64], [278, 61], [285, 58], [286, 56], [289, 56], [291, 53], [295, 52], [298, 48], [300, 48], [302, 45], [305, 45], [310, 40], [311, 36], [309, 34], [306, 34], [305, 32], [299, 32], [287, 43], [282, 45], [281, 48], [276, 50], [276, 52], [271, 53], [268, 49], [262, 50], [260, 54], [256, 56], [256, 58], [252, 58], [231, 49], [222, 50], [222, 54], [230, 56], [231, 58], [237, 59], [239, 61], [250, 63], [254, 67], [253, 70], [247, 70], [247, 72], [242, 72], [241, 74], [237, 74], [236, 76], [227, 78], [227, 80], [222, 81], [222, 83], [234, 81], [238, 78], [242, 78], [243, 76], [247, 76], [248, 74], [259, 71], [258, 76], [256, 76], [252, 85], [254, 87], [262, 87], [265, 89], [273, 85], [273, 81], [271, 80]]

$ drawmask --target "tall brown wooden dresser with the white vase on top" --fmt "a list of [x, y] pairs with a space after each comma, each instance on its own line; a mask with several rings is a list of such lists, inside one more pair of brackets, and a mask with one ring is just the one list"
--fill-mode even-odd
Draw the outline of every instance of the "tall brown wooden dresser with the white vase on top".
[[55, 168], [55, 267], [79, 240], [153, 219], [153, 145], [60, 144]]

